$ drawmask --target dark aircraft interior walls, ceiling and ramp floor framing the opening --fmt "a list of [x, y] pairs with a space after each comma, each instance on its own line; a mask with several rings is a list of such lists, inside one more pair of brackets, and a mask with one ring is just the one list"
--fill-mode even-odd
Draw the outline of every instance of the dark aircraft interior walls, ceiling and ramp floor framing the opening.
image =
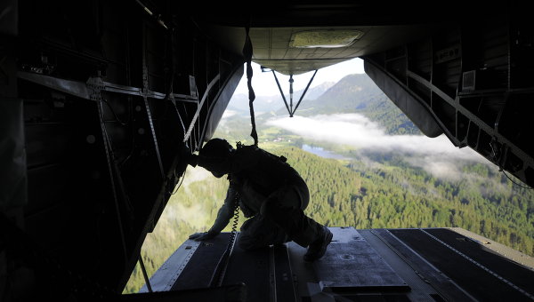
[[529, 9], [419, 5], [4, 0], [2, 301], [532, 300], [531, 258], [455, 228], [332, 227], [314, 264], [292, 242], [244, 253], [222, 234], [184, 242], [152, 292], [120, 295], [181, 179], [181, 144], [213, 136], [247, 60], [295, 76], [359, 57], [426, 136], [533, 187]]

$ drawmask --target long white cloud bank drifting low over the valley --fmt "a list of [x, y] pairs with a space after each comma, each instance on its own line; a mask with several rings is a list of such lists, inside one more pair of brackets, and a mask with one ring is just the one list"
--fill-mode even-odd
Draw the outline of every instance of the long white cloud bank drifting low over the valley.
[[388, 135], [377, 123], [359, 114], [283, 117], [268, 124], [306, 139], [349, 145], [361, 154], [405, 155], [410, 164], [441, 178], [457, 179], [461, 163], [489, 163], [469, 147], [455, 147], [445, 135], [433, 139], [422, 135]]

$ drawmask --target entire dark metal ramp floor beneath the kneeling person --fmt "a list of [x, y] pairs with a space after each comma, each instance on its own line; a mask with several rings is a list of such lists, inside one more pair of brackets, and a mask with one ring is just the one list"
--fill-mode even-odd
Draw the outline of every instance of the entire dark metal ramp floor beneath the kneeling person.
[[[253, 251], [236, 244], [223, 286], [244, 284], [243, 301], [534, 300], [534, 271], [447, 228], [329, 229], [333, 241], [313, 263], [295, 242]], [[206, 288], [229, 235], [184, 242], [152, 276], [156, 289]]]

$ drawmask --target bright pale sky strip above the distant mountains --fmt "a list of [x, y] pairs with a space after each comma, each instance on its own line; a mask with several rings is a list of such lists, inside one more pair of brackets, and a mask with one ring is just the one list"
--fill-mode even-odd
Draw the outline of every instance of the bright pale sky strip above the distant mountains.
[[[256, 96], [271, 96], [274, 94], [279, 94], [279, 89], [272, 76], [271, 71], [262, 72], [260, 65], [252, 63], [252, 88], [255, 91]], [[317, 75], [313, 78], [313, 82], [310, 85], [310, 88], [320, 85], [325, 82], [335, 82], [337, 83], [344, 76], [352, 74], [363, 74], [363, 60], [360, 58], [347, 60], [335, 65], [329, 66], [328, 68], [321, 68], [317, 71]], [[284, 93], [289, 93], [289, 76], [284, 76], [277, 73], [276, 75], [279, 79], [280, 86]], [[299, 91], [306, 88], [306, 85], [313, 76], [313, 71], [293, 76], [293, 90]], [[241, 81], [239, 82], [238, 87], [235, 91], [236, 94], [247, 94], [247, 73], [245, 72]]]

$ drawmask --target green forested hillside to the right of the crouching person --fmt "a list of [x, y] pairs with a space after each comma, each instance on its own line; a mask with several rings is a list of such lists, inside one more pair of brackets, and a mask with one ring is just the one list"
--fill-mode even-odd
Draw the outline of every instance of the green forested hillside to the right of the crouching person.
[[463, 227], [534, 255], [534, 194], [481, 163], [465, 178], [436, 179], [402, 162], [365, 164], [279, 147], [310, 186], [314, 219], [328, 226]]

